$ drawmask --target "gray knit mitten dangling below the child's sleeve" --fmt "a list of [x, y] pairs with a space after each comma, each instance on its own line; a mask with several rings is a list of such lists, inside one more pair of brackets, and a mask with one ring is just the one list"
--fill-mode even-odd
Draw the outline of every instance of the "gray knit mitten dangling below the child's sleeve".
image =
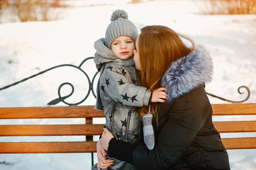
[[154, 129], [152, 126], [153, 115], [149, 113], [143, 116], [143, 133], [144, 133], [144, 142], [149, 150], [154, 148]]

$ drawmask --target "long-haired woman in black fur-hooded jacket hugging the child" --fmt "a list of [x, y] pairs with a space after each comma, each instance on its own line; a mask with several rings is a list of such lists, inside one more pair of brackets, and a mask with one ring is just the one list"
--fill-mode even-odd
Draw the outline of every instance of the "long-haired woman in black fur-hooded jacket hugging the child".
[[[192, 43], [188, 48], [180, 39]], [[97, 143], [99, 168], [113, 164], [109, 157], [136, 165], [140, 170], [230, 170], [228, 154], [212, 124], [212, 108], [204, 90], [212, 79], [212, 59], [202, 45], [165, 26], [142, 28], [134, 61], [141, 71], [141, 86], [166, 87], [166, 103], [151, 103], [155, 146], [119, 141], [104, 128]], [[148, 106], [140, 109], [140, 116]], [[104, 150], [102, 153], [105, 153]]]

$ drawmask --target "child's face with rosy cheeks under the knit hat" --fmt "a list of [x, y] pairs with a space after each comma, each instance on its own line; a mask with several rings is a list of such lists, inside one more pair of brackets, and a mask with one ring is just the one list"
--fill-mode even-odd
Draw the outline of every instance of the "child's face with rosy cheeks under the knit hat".
[[111, 50], [119, 59], [129, 59], [134, 55], [134, 40], [127, 36], [117, 37], [111, 43]]

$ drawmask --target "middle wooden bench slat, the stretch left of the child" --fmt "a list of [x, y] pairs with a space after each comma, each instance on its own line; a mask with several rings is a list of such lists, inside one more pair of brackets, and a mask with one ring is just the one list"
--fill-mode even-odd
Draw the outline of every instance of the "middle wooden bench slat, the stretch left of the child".
[[0, 136], [93, 136], [101, 135], [104, 125], [0, 125]]

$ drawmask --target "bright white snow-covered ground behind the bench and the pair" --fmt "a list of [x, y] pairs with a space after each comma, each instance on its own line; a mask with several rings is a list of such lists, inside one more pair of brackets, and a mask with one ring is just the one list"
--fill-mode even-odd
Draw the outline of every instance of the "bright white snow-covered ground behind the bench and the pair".
[[[146, 25], [164, 25], [190, 36], [205, 45], [215, 64], [215, 77], [206, 91], [226, 99], [239, 101], [247, 96], [237, 88], [246, 85], [251, 96], [247, 103], [256, 102], [256, 16], [255, 15], [201, 15], [190, 0], [162, 0], [126, 4], [129, 0], [68, 1], [76, 8], [58, 9], [62, 20], [50, 22], [0, 24], [0, 88], [32, 74], [61, 64], [79, 66], [87, 57], [93, 57], [95, 40], [105, 36], [115, 9], [124, 9], [138, 28]], [[107, 3], [106, 3], [107, 2]], [[73, 4], [74, 4], [73, 3]], [[93, 4], [110, 4], [93, 6]], [[93, 59], [81, 67], [92, 80], [96, 73]], [[94, 91], [96, 88], [94, 82]], [[88, 80], [76, 68], [61, 67], [38, 77], [0, 91], [1, 107], [44, 106], [58, 97], [63, 82], [74, 85], [74, 94], [68, 103], [80, 102], [87, 95]], [[244, 91], [244, 89], [241, 89]], [[70, 94], [64, 85], [61, 96]], [[211, 103], [227, 103], [210, 97]], [[94, 105], [90, 94], [80, 105]], [[60, 103], [58, 105], [65, 105]], [[256, 120], [256, 116], [215, 116], [214, 121]], [[0, 125], [84, 124], [84, 119], [20, 119], [0, 120]], [[104, 119], [93, 119], [104, 123]], [[256, 133], [221, 133], [221, 137], [256, 136]], [[97, 140], [98, 136], [95, 136]], [[83, 141], [84, 136], [0, 137], [0, 142]], [[256, 170], [256, 150], [228, 150], [232, 170]], [[94, 154], [96, 163], [96, 154]], [[1, 170], [89, 170], [90, 153], [68, 154], [1, 154]]]

